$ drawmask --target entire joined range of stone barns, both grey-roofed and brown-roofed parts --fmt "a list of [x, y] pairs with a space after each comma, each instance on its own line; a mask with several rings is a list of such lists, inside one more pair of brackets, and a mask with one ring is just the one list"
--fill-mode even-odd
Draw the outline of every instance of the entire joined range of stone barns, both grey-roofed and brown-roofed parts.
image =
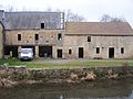
[[18, 57], [22, 47], [32, 47], [35, 57], [133, 58], [127, 22], [64, 23], [62, 12], [0, 11], [0, 15], [4, 55]]

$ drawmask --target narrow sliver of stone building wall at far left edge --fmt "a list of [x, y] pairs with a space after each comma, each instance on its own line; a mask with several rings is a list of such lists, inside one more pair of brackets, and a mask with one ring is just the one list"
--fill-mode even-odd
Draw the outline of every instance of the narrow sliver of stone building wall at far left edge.
[[3, 57], [3, 25], [0, 22], [0, 58]]

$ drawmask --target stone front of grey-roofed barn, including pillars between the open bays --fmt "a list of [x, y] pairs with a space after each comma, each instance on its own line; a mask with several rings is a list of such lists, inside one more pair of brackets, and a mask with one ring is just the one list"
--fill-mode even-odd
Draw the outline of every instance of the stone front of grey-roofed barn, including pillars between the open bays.
[[[33, 47], [35, 57], [42, 56], [39, 54], [44, 54], [40, 48], [50, 48], [51, 57], [55, 57], [54, 47], [62, 46], [63, 30], [12, 30], [6, 31], [6, 47], [17, 47], [16, 52], [20, 52], [22, 47]], [[19, 40], [19, 36], [21, 38]], [[9, 50], [11, 51], [11, 48]], [[10, 53], [7, 51], [8, 53]], [[8, 54], [7, 53], [7, 54]]]

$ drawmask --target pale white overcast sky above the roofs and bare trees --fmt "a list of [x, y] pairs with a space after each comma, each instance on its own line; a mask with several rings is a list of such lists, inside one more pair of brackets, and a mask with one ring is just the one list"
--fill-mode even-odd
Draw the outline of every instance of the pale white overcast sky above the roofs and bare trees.
[[103, 14], [125, 18], [133, 26], [133, 0], [0, 0], [0, 9], [44, 11], [71, 9], [88, 21], [100, 21]]

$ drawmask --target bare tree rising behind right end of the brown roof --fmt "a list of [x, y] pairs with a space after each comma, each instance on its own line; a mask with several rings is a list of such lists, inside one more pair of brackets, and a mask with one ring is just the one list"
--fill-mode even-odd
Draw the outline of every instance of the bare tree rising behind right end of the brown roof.
[[115, 16], [110, 16], [109, 14], [103, 14], [101, 22], [126, 22], [124, 18], [115, 18]]

